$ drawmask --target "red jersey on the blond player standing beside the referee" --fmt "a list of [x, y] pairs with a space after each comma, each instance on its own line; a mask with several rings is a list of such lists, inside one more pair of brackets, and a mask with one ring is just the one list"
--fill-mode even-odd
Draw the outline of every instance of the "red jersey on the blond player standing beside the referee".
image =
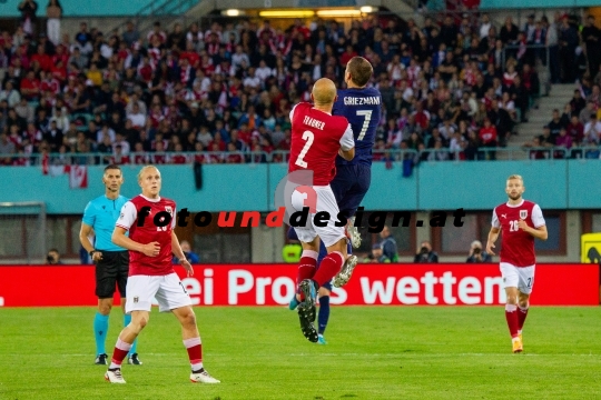
[[[146, 212], [146, 217], [142, 217], [145, 207], [150, 210]], [[167, 276], [175, 272], [171, 264], [171, 231], [176, 223], [175, 216], [175, 201], [165, 198], [149, 199], [139, 194], [124, 204], [116, 226], [129, 230], [129, 239], [138, 243], [146, 244], [156, 241], [160, 246], [156, 257], [129, 251], [130, 277], [137, 274]], [[141, 218], [144, 218], [144, 224], [138, 227], [138, 219]]]

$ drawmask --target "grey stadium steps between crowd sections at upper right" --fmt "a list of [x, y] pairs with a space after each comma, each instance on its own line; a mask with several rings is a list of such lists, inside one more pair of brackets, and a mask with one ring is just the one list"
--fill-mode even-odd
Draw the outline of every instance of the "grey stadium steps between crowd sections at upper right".
[[[522, 147], [535, 136], [542, 134], [543, 127], [553, 119], [553, 110], [558, 109], [560, 114], [563, 113], [563, 107], [570, 102], [575, 89], [574, 83], [553, 84], [549, 96], [539, 100], [539, 109], [530, 110], [528, 122], [520, 123], [516, 127], [518, 134], [510, 138], [508, 147]], [[528, 158], [526, 151], [512, 151], [511, 154], [506, 151], [500, 151], [496, 154], [497, 160], [523, 160], [525, 158]]]

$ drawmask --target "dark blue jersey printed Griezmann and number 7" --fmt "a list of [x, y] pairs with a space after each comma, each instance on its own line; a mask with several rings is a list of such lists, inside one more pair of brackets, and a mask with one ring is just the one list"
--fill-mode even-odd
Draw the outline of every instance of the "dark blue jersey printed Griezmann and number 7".
[[346, 117], [355, 137], [355, 158], [346, 161], [336, 157], [337, 166], [372, 164], [377, 126], [382, 117], [382, 94], [375, 88], [341, 89], [332, 110], [334, 116]]

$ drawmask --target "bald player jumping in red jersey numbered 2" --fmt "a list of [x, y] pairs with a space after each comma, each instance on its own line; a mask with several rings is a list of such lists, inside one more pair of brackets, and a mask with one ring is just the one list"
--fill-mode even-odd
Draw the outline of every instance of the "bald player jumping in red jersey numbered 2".
[[[305, 200], [313, 198], [307, 223], [295, 227], [298, 240], [303, 246], [300, 266], [298, 267], [298, 317], [305, 338], [318, 341], [315, 321], [315, 302], [317, 290], [334, 277], [334, 284], [345, 284], [357, 263], [355, 256], [347, 256], [345, 234], [346, 221], [338, 221], [338, 204], [329, 182], [336, 176], [335, 160], [341, 154], [345, 160], [355, 157], [355, 139], [348, 120], [345, 117], [332, 116], [336, 101], [336, 86], [327, 78], [319, 79], [313, 86], [311, 94], [313, 104], [300, 102], [290, 110], [292, 143], [288, 167], [289, 181], [295, 172], [312, 172], [312, 182], [303, 182], [296, 187], [292, 207], [302, 211], [307, 207]], [[297, 183], [297, 182], [293, 182]], [[298, 193], [295, 198], [295, 193]], [[327, 221], [314, 223], [315, 216], [327, 212]], [[327, 256], [317, 269], [319, 240], [324, 241]]]

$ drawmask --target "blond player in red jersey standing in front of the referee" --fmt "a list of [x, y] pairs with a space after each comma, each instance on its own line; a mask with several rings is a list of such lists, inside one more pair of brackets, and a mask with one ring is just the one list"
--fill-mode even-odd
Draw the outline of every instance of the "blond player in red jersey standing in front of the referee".
[[112, 232], [112, 242], [129, 250], [126, 312], [131, 313], [131, 322], [119, 334], [105, 379], [111, 383], [126, 382], [121, 362], [148, 323], [152, 299], [156, 298], [159, 311], [173, 312], [181, 323], [184, 346], [191, 364], [190, 380], [219, 383], [203, 367], [203, 346], [191, 300], [171, 264], [173, 252], [188, 277], [194, 273], [174, 232], [176, 203], [159, 196], [161, 180], [156, 167], [144, 167], [138, 173], [138, 183], [141, 194], [124, 204]]

